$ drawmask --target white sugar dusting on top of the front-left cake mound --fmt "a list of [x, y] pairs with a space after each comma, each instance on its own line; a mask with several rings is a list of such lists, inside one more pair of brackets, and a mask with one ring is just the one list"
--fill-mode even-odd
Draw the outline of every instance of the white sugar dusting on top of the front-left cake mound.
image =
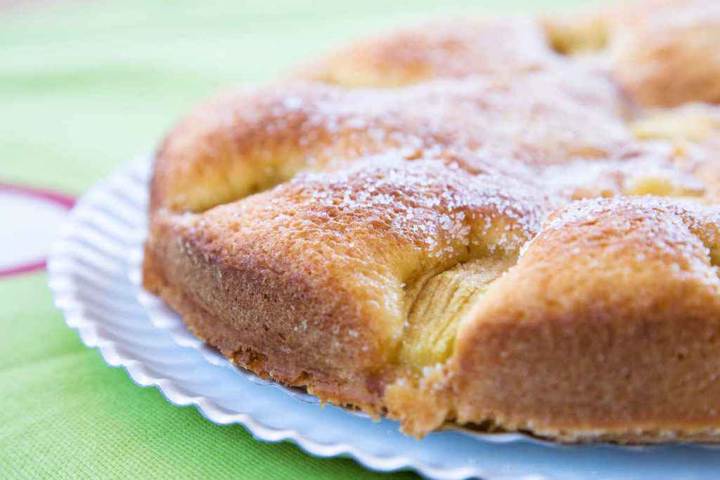
[[291, 184], [304, 192], [300, 209], [323, 209], [338, 222], [372, 224], [426, 248], [431, 256], [469, 245], [472, 231], [487, 231], [498, 219], [508, 222], [508, 232], [528, 240], [557, 201], [512, 178], [468, 173], [438, 158], [408, 161], [393, 153], [334, 173], [303, 173]]

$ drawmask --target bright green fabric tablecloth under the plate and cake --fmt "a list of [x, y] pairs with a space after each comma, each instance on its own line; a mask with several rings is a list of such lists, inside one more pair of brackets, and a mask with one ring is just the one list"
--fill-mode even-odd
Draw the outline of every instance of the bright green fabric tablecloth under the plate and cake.
[[[0, 9], [0, 181], [81, 194], [153, 148], [202, 97], [276, 78], [407, 17], [580, 2], [471, 3], [136, 0]], [[135, 386], [63, 324], [43, 272], [1, 279], [0, 306], [0, 478], [376, 475], [349, 459], [257, 442], [243, 427], [214, 425]]]

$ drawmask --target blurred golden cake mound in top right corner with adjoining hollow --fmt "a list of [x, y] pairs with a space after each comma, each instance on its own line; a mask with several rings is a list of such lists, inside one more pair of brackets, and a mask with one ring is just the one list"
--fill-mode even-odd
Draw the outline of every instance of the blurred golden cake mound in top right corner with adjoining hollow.
[[639, 104], [720, 103], [720, 4], [714, 0], [626, 2], [547, 19], [551, 42], [608, 68]]

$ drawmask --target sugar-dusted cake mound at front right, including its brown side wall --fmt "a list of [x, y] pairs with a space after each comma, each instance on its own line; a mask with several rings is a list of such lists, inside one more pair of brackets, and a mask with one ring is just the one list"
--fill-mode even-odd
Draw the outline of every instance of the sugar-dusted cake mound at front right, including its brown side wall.
[[459, 420], [564, 438], [707, 435], [720, 423], [719, 221], [657, 198], [556, 212], [458, 334]]

